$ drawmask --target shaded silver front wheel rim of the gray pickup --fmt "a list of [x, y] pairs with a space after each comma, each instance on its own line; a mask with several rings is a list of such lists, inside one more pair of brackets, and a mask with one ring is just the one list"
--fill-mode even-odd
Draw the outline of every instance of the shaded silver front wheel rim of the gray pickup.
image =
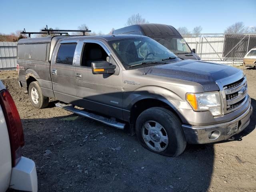
[[168, 135], [164, 127], [156, 121], [147, 121], [142, 126], [144, 142], [154, 151], [163, 151], [168, 146]]

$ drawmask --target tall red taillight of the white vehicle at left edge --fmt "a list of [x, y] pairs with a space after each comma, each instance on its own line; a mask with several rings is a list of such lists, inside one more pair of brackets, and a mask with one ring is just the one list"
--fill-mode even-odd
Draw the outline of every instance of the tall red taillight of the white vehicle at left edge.
[[20, 115], [8, 90], [0, 91], [0, 104], [4, 112], [12, 153], [12, 166], [21, 158], [21, 147], [24, 146], [24, 134]]

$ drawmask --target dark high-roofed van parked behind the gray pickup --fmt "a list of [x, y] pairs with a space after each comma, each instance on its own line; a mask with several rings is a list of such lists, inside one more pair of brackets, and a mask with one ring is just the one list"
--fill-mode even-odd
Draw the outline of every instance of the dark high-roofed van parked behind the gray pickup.
[[196, 55], [196, 50], [191, 50], [181, 34], [170, 25], [137, 24], [114, 30], [113, 34], [148, 36], [178, 55], [179, 58], [200, 60], [200, 57]]

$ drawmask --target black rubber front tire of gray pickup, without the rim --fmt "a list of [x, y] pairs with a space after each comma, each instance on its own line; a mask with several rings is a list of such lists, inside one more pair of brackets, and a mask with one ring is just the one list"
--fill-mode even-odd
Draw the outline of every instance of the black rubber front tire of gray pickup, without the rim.
[[[163, 118], [163, 116], [165, 117], [169, 116], [169, 118]], [[168, 146], [163, 151], [158, 152], [158, 151], [152, 150], [143, 139], [142, 126], [144, 125], [145, 122], [149, 120], [160, 123], [167, 132]], [[164, 156], [177, 156], [177, 149], [180, 147], [178, 146], [179, 145], [178, 138], [182, 136], [182, 139], [184, 139], [184, 135], [181, 130], [181, 123], [178, 120], [178, 118], [176, 118], [176, 116], [173, 116], [170, 113], [167, 113], [164, 110], [160, 110], [159, 108], [150, 108], [140, 114], [140, 116], [136, 121], [136, 135], [144, 148]]]

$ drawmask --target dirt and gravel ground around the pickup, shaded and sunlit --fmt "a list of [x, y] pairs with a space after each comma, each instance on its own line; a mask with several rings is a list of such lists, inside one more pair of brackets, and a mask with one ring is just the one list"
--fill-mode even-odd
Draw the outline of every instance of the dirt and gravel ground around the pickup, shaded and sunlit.
[[[256, 110], [256, 70], [244, 70]], [[36, 163], [39, 192], [234, 192], [256, 191], [256, 112], [234, 141], [187, 145], [176, 158], [140, 146], [136, 136], [76, 116], [54, 101], [32, 107], [17, 73], [0, 72], [25, 134], [23, 156]]]

